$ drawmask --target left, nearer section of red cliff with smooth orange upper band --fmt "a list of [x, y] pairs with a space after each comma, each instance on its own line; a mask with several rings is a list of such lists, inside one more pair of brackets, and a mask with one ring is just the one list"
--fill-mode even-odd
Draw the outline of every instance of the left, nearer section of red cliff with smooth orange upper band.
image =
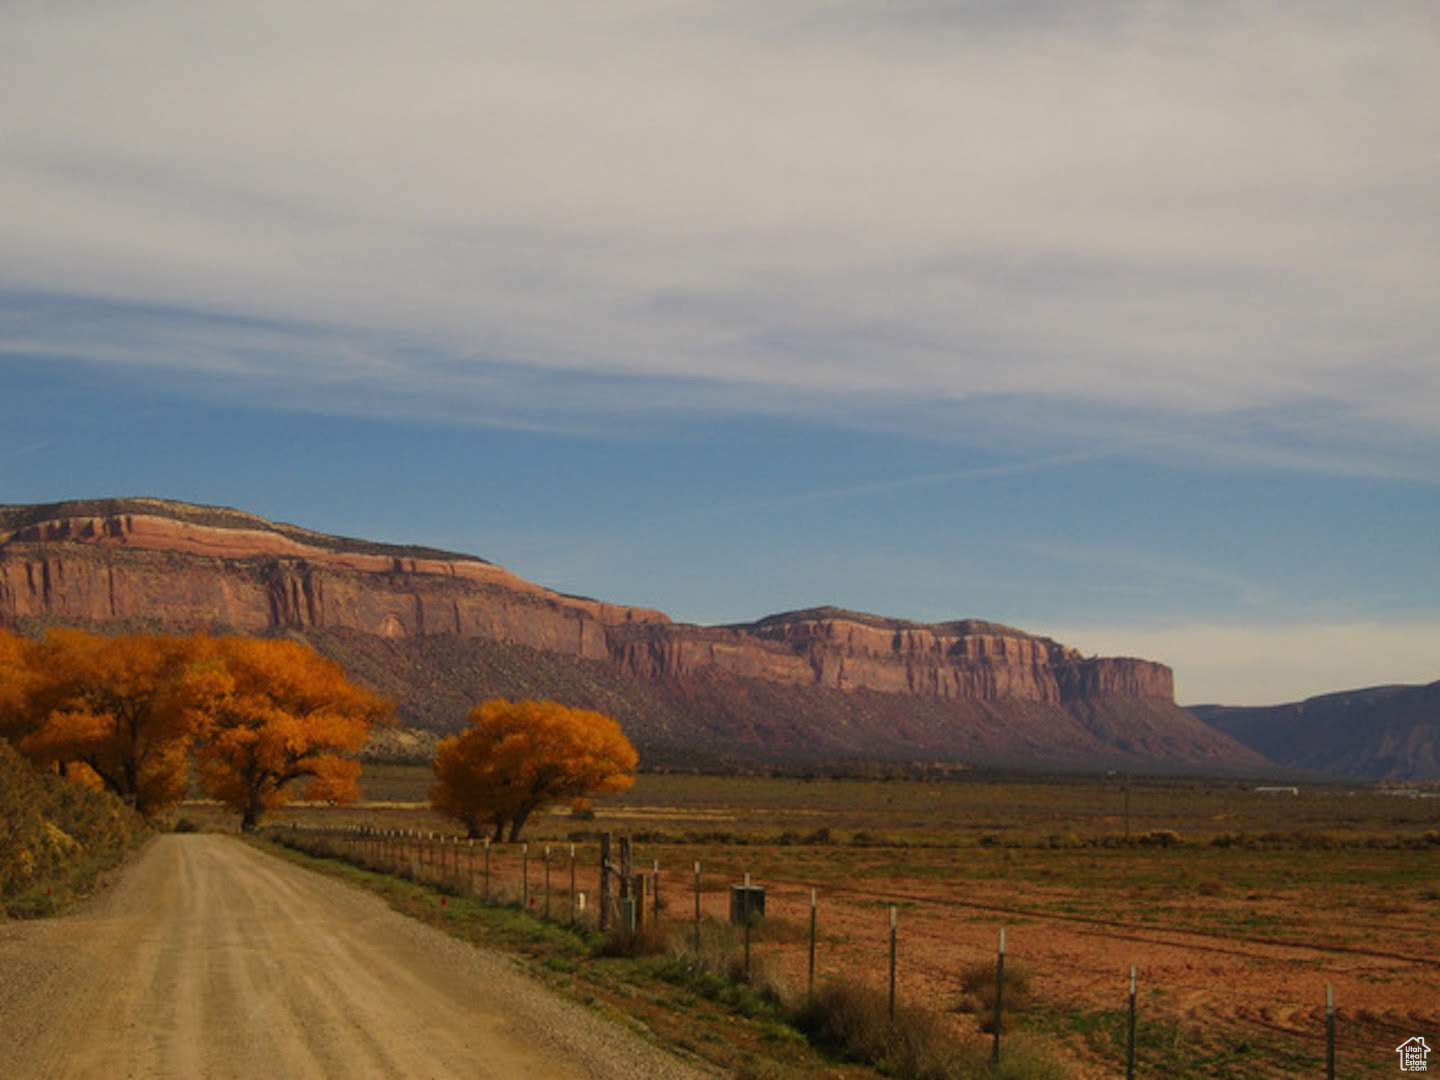
[[611, 625], [668, 622], [562, 596], [481, 559], [158, 500], [0, 510], [0, 621], [26, 618], [456, 634], [592, 660], [609, 655]]

